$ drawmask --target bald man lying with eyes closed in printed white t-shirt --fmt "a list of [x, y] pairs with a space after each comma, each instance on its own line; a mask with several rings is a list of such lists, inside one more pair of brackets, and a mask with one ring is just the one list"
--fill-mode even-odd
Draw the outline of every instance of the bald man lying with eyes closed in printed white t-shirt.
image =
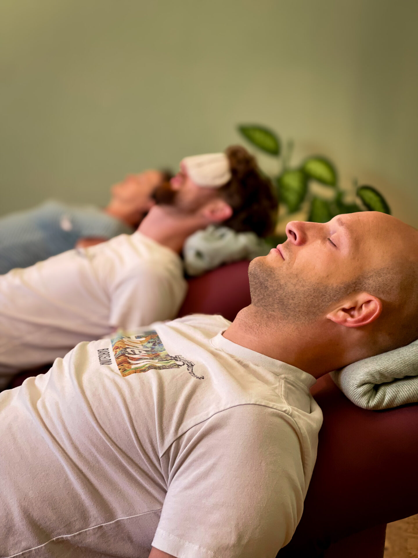
[[322, 422], [309, 388], [418, 337], [418, 232], [365, 212], [287, 235], [250, 264], [234, 323], [79, 343], [0, 394], [1, 556], [273, 558], [289, 542]]

